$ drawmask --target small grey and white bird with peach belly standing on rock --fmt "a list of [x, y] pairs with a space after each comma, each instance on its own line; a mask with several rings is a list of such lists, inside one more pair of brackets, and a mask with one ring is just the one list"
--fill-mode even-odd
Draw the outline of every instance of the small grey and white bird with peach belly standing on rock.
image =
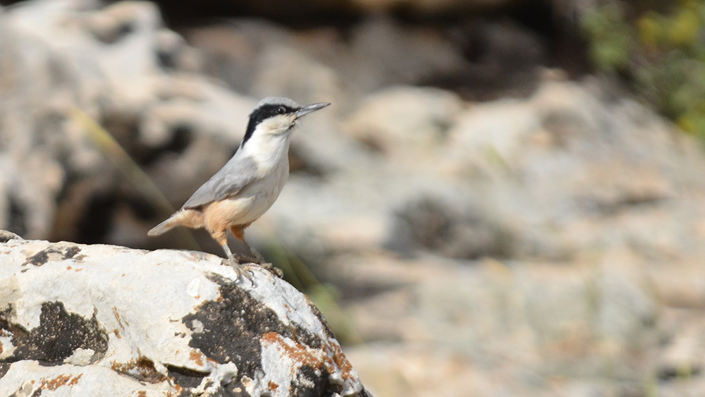
[[264, 259], [245, 241], [245, 228], [276, 201], [289, 176], [289, 142], [297, 121], [329, 106], [300, 106], [292, 99], [266, 97], [250, 113], [247, 129], [233, 157], [186, 200], [183, 207], [154, 226], [159, 236], [176, 226], [205, 228], [232, 264], [239, 263], [228, 247], [228, 230], [257, 261]]

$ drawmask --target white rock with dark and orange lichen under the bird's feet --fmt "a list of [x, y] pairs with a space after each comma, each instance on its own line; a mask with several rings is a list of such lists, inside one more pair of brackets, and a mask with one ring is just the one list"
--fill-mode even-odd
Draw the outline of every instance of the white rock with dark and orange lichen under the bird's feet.
[[200, 252], [11, 237], [1, 396], [366, 393], [320, 312], [261, 267], [250, 283]]

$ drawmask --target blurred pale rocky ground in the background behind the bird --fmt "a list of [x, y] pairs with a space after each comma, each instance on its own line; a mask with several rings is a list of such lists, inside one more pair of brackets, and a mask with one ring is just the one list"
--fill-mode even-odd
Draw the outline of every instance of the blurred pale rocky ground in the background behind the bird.
[[372, 393], [705, 393], [701, 143], [611, 80], [568, 78], [536, 34], [384, 16], [177, 34], [146, 2], [73, 1], [18, 4], [0, 29], [0, 228], [219, 254], [146, 232], [231, 156], [260, 97], [332, 102], [247, 236], [333, 286]]

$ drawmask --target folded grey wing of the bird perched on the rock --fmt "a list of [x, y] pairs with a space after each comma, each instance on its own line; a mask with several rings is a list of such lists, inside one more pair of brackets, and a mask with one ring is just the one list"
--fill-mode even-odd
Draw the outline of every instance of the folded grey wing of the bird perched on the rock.
[[237, 194], [257, 177], [257, 164], [249, 158], [230, 159], [220, 171], [191, 195], [182, 209], [202, 207]]

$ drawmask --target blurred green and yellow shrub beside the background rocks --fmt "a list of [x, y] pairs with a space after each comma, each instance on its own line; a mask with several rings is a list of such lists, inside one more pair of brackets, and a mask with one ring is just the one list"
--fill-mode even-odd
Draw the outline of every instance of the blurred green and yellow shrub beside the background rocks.
[[597, 69], [627, 78], [658, 111], [705, 138], [705, 4], [667, 4], [608, 0], [580, 25]]

